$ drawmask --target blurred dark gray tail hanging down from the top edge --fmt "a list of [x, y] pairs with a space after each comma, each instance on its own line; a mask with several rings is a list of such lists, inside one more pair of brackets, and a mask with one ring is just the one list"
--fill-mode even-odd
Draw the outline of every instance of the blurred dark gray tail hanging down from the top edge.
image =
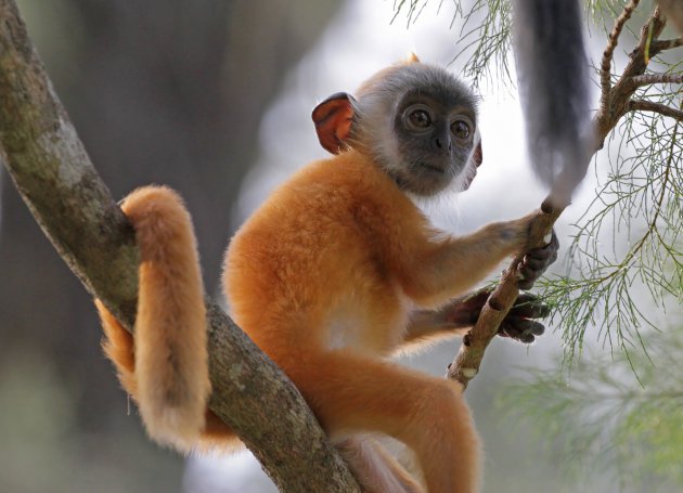
[[566, 206], [595, 145], [579, 0], [515, 0], [515, 59], [537, 176]]

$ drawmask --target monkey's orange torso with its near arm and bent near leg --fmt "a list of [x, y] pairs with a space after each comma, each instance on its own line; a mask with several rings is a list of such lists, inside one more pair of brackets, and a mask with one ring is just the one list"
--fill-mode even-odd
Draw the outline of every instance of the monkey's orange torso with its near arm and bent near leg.
[[473, 492], [479, 445], [461, 389], [383, 361], [413, 304], [464, 293], [520, 249], [529, 218], [442, 237], [356, 151], [313, 163], [237, 232], [224, 287], [237, 324], [331, 436], [378, 431], [417, 454], [430, 493]]

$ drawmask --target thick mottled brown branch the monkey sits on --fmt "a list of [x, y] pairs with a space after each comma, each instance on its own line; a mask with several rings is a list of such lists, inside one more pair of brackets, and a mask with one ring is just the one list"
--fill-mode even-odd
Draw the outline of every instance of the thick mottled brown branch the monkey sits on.
[[[130, 329], [133, 230], [83, 151], [13, 0], [0, 0], [0, 160], [74, 273]], [[286, 376], [210, 301], [208, 314], [210, 407], [280, 490], [359, 491]]]

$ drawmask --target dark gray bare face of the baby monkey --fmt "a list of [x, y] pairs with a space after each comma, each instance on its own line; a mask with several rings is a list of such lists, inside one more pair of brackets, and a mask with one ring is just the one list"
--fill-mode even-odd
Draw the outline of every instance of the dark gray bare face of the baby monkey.
[[403, 190], [417, 195], [446, 189], [467, 166], [475, 125], [474, 108], [461, 101], [424, 91], [407, 93], [394, 119], [403, 166], [390, 170], [392, 178]]

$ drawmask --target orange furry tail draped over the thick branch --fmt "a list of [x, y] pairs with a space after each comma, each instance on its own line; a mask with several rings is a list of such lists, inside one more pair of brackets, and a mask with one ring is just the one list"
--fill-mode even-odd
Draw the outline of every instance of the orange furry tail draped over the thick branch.
[[140, 248], [138, 316], [133, 339], [96, 301], [104, 350], [138, 402], [150, 437], [188, 451], [205, 431], [211, 389], [192, 221], [182, 199], [167, 187], [139, 189], [121, 208]]

